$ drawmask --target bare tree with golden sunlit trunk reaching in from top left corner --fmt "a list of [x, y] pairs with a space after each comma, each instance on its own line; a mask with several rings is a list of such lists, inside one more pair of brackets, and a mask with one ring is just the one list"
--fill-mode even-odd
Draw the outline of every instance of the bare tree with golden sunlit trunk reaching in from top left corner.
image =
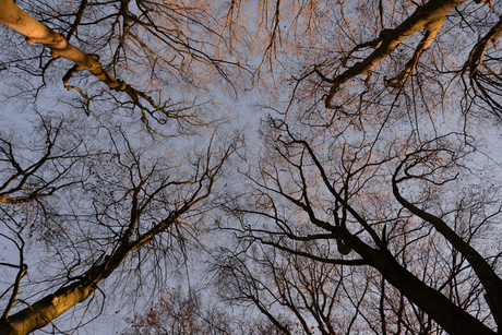
[[[183, 131], [188, 131], [186, 128], [190, 124], [205, 123], [199, 107], [207, 103], [204, 98], [211, 99], [202, 95], [202, 91], [208, 88], [208, 77], [215, 72], [216, 77], [230, 83], [227, 68], [237, 68], [227, 59], [216, 58], [217, 47], [211, 45], [215, 38], [204, 38], [204, 35], [217, 36], [212, 31], [212, 23], [207, 23], [211, 17], [205, 12], [205, 5], [186, 7], [182, 3], [148, 1], [133, 5], [130, 1], [100, 3], [86, 0], [68, 5], [62, 3], [62, 9], [53, 11], [52, 4], [43, 4], [55, 13], [50, 14], [51, 19], [56, 21], [57, 28], [63, 32], [58, 33], [44, 23], [46, 13], [40, 8], [31, 8], [35, 11], [34, 15], [40, 16], [37, 20], [13, 0], [0, 2], [1, 24], [24, 35], [29, 44], [41, 44], [50, 51], [50, 57], [46, 51], [35, 56], [40, 58], [43, 65], [32, 69], [26, 64], [20, 67], [32, 76], [31, 81], [34, 81], [33, 76], [41, 77], [43, 83], [36, 88], [36, 94], [47, 84], [47, 72], [55, 60], [63, 58], [73, 65], [65, 70], [61, 80], [65, 88], [80, 93], [80, 108], [86, 113], [98, 108], [96, 103], [103, 101], [104, 93], [92, 95], [87, 89], [70, 84], [70, 80], [83, 70], [91, 72], [109, 91], [122, 93], [113, 95], [108, 92], [106, 95], [110, 95], [109, 100], [115, 100], [115, 108], [140, 111], [141, 120], [147, 127], [152, 120], [160, 124], [174, 120]], [[71, 17], [73, 22], [70, 22]], [[196, 31], [196, 34], [191, 31]], [[75, 39], [76, 46], [71, 39]], [[100, 52], [99, 56], [85, 51], [97, 51], [105, 46], [111, 47], [111, 52]], [[21, 59], [5, 58], [9, 69], [20, 60], [24, 61], [23, 56]], [[159, 71], [152, 71], [156, 68]], [[203, 80], [200, 79], [202, 75]], [[129, 82], [141, 88], [134, 88]], [[166, 92], [166, 87], [169, 87], [169, 92]], [[27, 91], [26, 87], [22, 89]], [[194, 95], [201, 97], [188, 101], [178, 99], [177, 96], [183, 95], [187, 89], [194, 91]], [[215, 84], [211, 89], [215, 89]]]

